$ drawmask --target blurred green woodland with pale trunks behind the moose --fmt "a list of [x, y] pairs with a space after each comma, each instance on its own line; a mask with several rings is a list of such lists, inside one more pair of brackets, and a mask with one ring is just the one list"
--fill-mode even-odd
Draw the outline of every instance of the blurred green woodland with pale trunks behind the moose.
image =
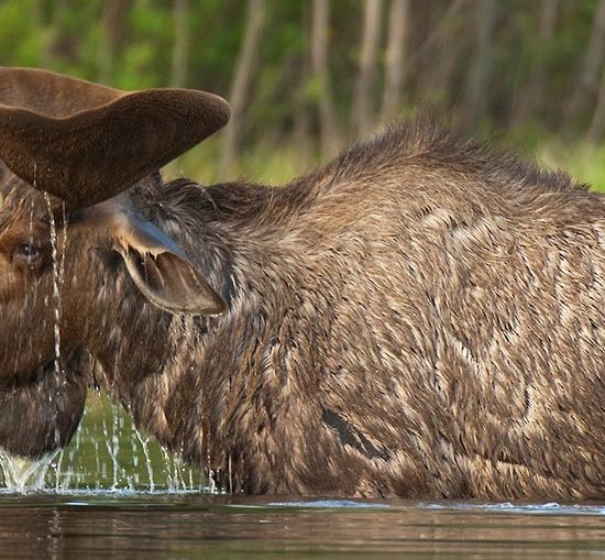
[[170, 166], [273, 183], [429, 111], [605, 188], [605, 0], [0, 0], [0, 64], [230, 100]]

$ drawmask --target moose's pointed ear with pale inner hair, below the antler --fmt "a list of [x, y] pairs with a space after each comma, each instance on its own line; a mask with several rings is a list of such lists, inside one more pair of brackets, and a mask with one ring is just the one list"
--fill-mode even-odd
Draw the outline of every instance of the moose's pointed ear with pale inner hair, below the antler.
[[219, 315], [226, 310], [183, 250], [151, 222], [138, 221], [120, 235], [127, 270], [141, 293], [173, 314]]

